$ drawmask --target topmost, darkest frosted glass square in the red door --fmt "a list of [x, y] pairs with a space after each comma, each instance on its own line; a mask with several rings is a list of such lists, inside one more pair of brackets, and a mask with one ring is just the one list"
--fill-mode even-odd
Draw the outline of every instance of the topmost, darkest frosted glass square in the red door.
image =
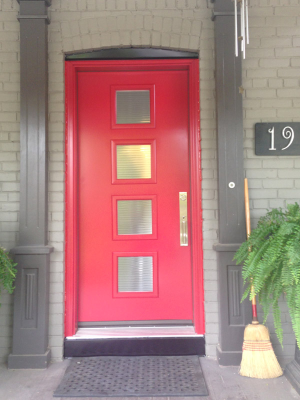
[[116, 123], [150, 123], [150, 90], [116, 90]]

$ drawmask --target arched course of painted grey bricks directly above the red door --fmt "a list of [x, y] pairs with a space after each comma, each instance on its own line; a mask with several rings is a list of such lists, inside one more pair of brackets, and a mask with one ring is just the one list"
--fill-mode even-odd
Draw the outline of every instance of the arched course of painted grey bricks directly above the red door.
[[199, 49], [202, 21], [175, 18], [177, 29], [158, 24], [155, 29], [152, 18], [149, 23], [151, 28], [146, 29], [143, 25], [141, 30], [136, 22], [126, 22], [127, 17], [119, 15], [111, 22], [104, 17], [61, 21], [63, 52], [113, 47], [157, 47], [184, 51]]

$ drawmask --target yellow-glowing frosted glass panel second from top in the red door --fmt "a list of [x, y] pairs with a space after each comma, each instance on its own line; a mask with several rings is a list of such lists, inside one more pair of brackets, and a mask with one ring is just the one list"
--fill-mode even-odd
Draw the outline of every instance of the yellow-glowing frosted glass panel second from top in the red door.
[[151, 178], [151, 145], [118, 144], [116, 146], [116, 178]]

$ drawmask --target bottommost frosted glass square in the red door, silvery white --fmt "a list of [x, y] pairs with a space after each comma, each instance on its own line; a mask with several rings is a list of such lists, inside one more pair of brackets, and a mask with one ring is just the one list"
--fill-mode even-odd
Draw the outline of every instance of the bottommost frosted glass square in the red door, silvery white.
[[151, 256], [117, 258], [118, 291], [153, 291]]

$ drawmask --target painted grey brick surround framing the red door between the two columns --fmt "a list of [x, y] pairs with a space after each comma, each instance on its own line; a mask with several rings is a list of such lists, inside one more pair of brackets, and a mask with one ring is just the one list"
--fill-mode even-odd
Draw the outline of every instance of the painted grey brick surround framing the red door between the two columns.
[[[200, 52], [203, 166], [204, 269], [207, 353], [215, 353], [218, 311], [216, 241], [216, 139], [213, 22], [206, 0], [52, 1], [49, 25], [49, 239], [51, 254], [50, 344], [61, 357], [63, 304], [63, 52], [120, 46], [153, 46]], [[214, 182], [214, 183], [212, 183]], [[58, 219], [57, 219], [58, 218]], [[54, 270], [55, 268], [55, 270]]]

